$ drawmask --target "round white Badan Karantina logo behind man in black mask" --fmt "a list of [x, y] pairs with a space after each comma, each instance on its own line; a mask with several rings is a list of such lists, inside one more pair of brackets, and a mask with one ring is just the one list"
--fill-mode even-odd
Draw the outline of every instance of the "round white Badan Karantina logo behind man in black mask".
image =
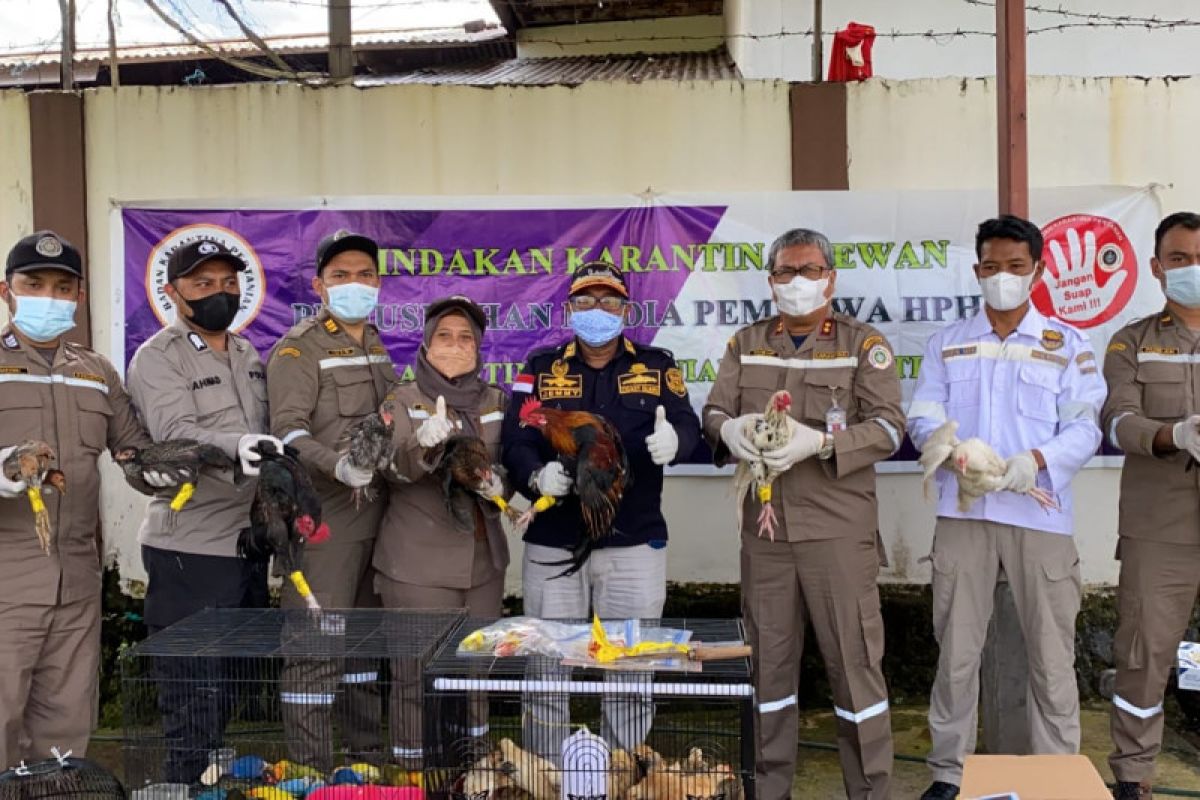
[[[258, 254], [250, 243], [221, 225], [197, 224], [175, 228], [167, 234], [146, 259], [146, 297], [154, 309], [158, 321], [169, 325], [175, 319], [175, 306], [167, 297], [163, 287], [167, 285], [167, 259], [179, 247], [186, 247], [197, 241], [204, 241], [199, 251], [208, 255], [220, 248], [214, 242], [221, 242], [226, 249], [240, 257], [250, 269], [238, 272], [238, 283], [241, 285], [241, 305], [238, 315], [233, 318], [229, 330], [238, 333], [244, 327], [254, 321], [259, 309], [263, 307], [263, 299], [266, 296], [266, 275], [263, 272], [263, 264], [258, 260]], [[210, 249], [205, 251], [205, 247]]]

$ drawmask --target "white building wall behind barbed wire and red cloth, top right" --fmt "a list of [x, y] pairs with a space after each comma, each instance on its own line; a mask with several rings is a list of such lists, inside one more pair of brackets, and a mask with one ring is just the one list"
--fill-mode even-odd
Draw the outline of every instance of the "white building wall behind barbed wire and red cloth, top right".
[[[937, 78], [996, 73], [996, 40], [990, 35], [954, 36], [953, 31], [996, 29], [996, 12], [962, 0], [844, 0], [824, 4], [822, 29], [828, 74], [833, 32], [850, 22], [872, 25], [875, 74], [886, 78]], [[1145, 26], [1092, 28], [1074, 14], [1132, 14], [1159, 19], [1200, 19], [1190, 0], [1055, 0], [1026, 4], [1067, 12], [1027, 13], [1030, 74], [1046, 76], [1188, 76], [1200, 72], [1200, 29], [1146, 30]], [[811, 80], [812, 0], [726, 0], [731, 34], [755, 34], [731, 43], [738, 67], [748, 78]], [[1062, 24], [1066, 30], [1044, 30]], [[778, 36], [779, 31], [798, 35]], [[888, 32], [941, 36], [890, 38]], [[1040, 31], [1040, 32], [1038, 32]], [[762, 35], [768, 36], [762, 36]]]

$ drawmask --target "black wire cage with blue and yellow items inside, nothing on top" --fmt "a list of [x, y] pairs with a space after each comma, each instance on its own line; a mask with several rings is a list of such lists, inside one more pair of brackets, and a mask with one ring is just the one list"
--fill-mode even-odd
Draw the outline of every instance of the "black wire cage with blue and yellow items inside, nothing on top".
[[412, 796], [422, 763], [403, 716], [462, 616], [206, 609], [155, 633], [121, 658], [131, 796]]

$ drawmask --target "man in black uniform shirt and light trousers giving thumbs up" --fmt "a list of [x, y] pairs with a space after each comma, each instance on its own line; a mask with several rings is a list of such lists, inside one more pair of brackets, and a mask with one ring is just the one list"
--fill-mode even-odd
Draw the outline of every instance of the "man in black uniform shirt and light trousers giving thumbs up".
[[[504, 419], [503, 461], [512, 485], [534, 498], [558, 501], [534, 517], [524, 534], [524, 610], [542, 619], [578, 619], [594, 610], [607, 619], [661, 616], [666, 601], [667, 525], [662, 518], [662, 467], [691, 456], [701, 441], [700, 420], [674, 356], [622, 335], [629, 289], [607, 261], [581, 266], [570, 288], [575, 337], [536, 350], [514, 384]], [[613, 533], [596, 543], [583, 569], [557, 577], [570, 548], [584, 535], [574, 479], [542, 434], [518, 423], [521, 404], [538, 398], [547, 408], [606, 417], [620, 433], [630, 480]], [[565, 703], [533, 698], [526, 742], [557, 758], [570, 730]], [[632, 698], [607, 703], [601, 735], [632, 748], [649, 730], [653, 706]]]

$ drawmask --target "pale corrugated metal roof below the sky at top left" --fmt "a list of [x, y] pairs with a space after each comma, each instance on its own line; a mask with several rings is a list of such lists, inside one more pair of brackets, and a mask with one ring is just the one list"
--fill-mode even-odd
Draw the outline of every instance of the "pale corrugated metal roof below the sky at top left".
[[[355, 49], [389, 49], [398, 47], [424, 47], [440, 44], [479, 44], [502, 40], [506, 36], [503, 28], [485, 28], [476, 32], [467, 32], [463, 28], [425, 28], [407, 30], [366, 30], [353, 35]], [[329, 49], [326, 34], [306, 36], [264, 36], [263, 40], [281, 55], [317, 53]], [[205, 44], [222, 55], [254, 56], [262, 50], [253, 42], [239, 40], [212, 40]], [[61, 53], [56, 50], [42, 53], [8, 53], [0, 55], [0, 70], [7, 67], [32, 67], [42, 64], [58, 64]], [[120, 64], [149, 61], [181, 61], [187, 59], [211, 58], [205, 50], [185, 42], [168, 44], [128, 44], [116, 48]], [[76, 64], [108, 61], [108, 48], [83, 48], [76, 50]]]

